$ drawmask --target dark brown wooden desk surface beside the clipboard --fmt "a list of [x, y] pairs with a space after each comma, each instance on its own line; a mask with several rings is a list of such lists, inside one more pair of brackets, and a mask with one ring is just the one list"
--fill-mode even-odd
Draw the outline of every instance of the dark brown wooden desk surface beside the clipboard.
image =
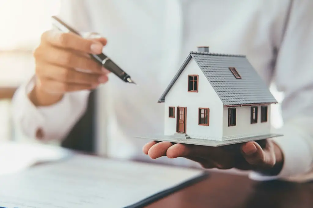
[[313, 183], [252, 181], [246, 176], [212, 173], [147, 208], [312, 208]]

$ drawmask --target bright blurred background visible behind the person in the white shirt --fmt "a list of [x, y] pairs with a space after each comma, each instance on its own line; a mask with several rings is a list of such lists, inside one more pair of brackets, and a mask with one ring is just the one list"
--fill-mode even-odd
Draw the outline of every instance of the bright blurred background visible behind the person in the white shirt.
[[[0, 0], [0, 141], [27, 140], [13, 126], [11, 99], [14, 91], [34, 73], [33, 50], [41, 33], [51, 28], [50, 17], [58, 13], [60, 0]], [[283, 94], [271, 91], [280, 102]], [[274, 127], [282, 125], [280, 105], [273, 105]]]

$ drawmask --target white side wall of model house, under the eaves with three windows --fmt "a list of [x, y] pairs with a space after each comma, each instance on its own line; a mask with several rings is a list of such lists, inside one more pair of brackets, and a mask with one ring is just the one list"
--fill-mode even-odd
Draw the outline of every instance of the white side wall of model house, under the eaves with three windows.
[[261, 135], [270, 133], [270, 105], [267, 122], [261, 123], [261, 107], [258, 105], [258, 123], [251, 124], [251, 106], [235, 107], [236, 126], [228, 126], [228, 107], [223, 107], [223, 141], [231, 140], [236, 135]]

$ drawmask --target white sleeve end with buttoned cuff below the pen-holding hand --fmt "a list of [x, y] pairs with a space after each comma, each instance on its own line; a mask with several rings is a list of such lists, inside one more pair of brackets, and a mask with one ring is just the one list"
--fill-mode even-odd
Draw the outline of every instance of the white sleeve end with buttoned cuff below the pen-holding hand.
[[36, 132], [41, 129], [43, 137], [38, 139], [61, 140], [85, 113], [89, 91], [66, 93], [56, 104], [36, 107], [28, 98], [34, 79], [20, 86], [14, 94], [15, 126], [20, 127], [21, 132], [29, 138], [36, 138]]

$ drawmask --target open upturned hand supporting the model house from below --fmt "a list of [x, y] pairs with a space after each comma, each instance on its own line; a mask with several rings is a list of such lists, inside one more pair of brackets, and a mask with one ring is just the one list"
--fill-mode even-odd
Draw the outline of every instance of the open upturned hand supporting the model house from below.
[[262, 149], [256, 142], [239, 144], [240, 148], [207, 147], [170, 142], [149, 142], [143, 152], [152, 159], [185, 157], [204, 168], [254, 170], [267, 175], [277, 175], [283, 166], [283, 154], [271, 140]]

